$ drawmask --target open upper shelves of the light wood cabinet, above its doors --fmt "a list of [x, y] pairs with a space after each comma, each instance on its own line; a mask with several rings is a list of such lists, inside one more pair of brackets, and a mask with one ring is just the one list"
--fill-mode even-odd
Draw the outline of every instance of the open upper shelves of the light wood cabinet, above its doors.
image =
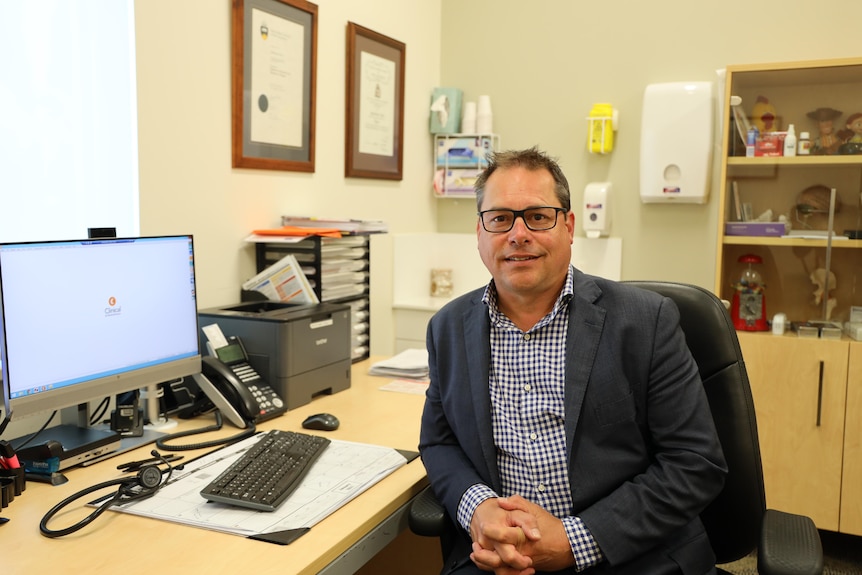
[[[813, 140], [818, 135], [818, 126], [807, 114], [826, 106], [842, 110], [842, 118], [835, 121], [838, 131], [843, 128], [843, 118], [860, 111], [856, 106], [862, 109], [857, 103], [860, 90], [862, 59], [732, 66], [727, 70], [726, 117], [729, 120], [732, 116], [731, 95], [742, 98], [749, 115], [757, 97], [766, 96], [776, 106], [781, 129], [792, 123], [797, 133], [811, 132]], [[728, 121], [724, 126], [724, 150], [731, 149], [733, 139], [738, 138], [730, 128]], [[815, 286], [809, 277], [825, 265], [826, 239], [728, 236], [724, 230], [725, 222], [736, 219], [730, 193], [732, 182], [737, 183], [742, 202], [750, 203], [755, 215], [771, 209], [776, 217], [786, 215], [795, 230], [804, 227], [806, 219], [812, 228], [825, 230], [825, 217], [800, 218], [794, 209], [796, 198], [804, 189], [824, 185], [837, 190], [840, 202], [829, 254], [831, 271], [837, 279], [832, 292], [837, 306], [831, 319], [846, 320], [851, 305], [862, 305], [862, 294], [857, 288], [862, 279], [862, 240], [843, 237], [845, 230], [862, 228], [862, 156], [747, 158], [725, 154], [721, 170], [716, 293], [731, 299], [733, 283], [742, 270], [737, 261], [739, 256], [756, 253], [763, 258], [760, 271], [766, 283], [767, 313], [781, 311], [794, 321], [826, 319], [813, 303]]]

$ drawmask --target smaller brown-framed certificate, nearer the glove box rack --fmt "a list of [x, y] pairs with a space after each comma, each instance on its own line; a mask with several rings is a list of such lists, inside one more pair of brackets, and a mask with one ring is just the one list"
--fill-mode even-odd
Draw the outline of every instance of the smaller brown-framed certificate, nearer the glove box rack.
[[344, 175], [401, 180], [406, 45], [347, 23]]

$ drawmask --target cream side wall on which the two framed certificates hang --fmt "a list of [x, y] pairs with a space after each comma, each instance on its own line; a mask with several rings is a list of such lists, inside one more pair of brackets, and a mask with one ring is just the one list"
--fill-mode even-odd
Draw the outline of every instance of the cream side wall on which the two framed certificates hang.
[[[303, 174], [231, 167], [231, 2], [136, 3], [141, 230], [194, 234], [200, 308], [238, 301], [240, 283], [255, 272], [244, 238], [279, 226], [283, 214], [379, 219], [393, 233], [436, 226], [426, 108], [440, 76], [439, 0], [316, 4], [316, 166]], [[406, 44], [400, 182], [344, 177], [348, 21]], [[390, 251], [388, 237], [374, 239], [376, 353], [392, 345]]]

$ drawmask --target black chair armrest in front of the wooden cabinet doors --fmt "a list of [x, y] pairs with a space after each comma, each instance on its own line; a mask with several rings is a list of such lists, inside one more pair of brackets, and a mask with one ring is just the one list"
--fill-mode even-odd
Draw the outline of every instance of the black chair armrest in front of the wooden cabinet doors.
[[811, 518], [767, 509], [760, 528], [757, 571], [762, 575], [821, 575], [823, 547]]

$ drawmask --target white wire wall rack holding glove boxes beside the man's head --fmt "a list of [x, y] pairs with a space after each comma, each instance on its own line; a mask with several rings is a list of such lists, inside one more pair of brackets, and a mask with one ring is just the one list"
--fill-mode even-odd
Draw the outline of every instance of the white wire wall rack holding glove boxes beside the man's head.
[[473, 197], [473, 183], [488, 165], [485, 156], [499, 149], [497, 134], [435, 134], [434, 195], [438, 198]]

